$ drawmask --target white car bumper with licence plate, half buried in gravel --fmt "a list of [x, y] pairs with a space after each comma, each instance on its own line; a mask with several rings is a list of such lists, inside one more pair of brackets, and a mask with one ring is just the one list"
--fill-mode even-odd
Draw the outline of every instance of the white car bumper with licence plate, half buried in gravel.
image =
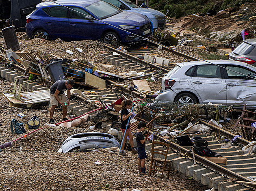
[[108, 133], [78, 133], [69, 136], [61, 145], [58, 152], [71, 152], [72, 150], [88, 152], [93, 148], [111, 148], [119, 147], [115, 137]]

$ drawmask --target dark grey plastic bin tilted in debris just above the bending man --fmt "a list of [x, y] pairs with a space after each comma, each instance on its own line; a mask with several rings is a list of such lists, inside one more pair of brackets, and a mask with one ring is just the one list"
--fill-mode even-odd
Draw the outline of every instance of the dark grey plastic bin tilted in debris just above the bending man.
[[46, 70], [48, 71], [51, 79], [56, 82], [59, 79], [63, 79], [64, 73], [61, 67], [62, 60], [58, 60], [56, 62], [52, 62], [46, 65]]

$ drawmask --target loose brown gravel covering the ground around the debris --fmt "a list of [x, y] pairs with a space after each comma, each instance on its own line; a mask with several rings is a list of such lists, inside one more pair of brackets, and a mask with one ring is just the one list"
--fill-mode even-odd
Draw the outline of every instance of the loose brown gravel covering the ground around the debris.
[[[60, 58], [88, 60], [93, 62], [97, 69], [106, 71], [101, 64], [106, 64], [104, 58], [100, 56], [104, 49], [102, 43], [98, 41], [77, 41], [77, 42], [57, 42], [41, 41], [39, 39], [28, 40], [19, 39], [20, 51], [38, 50], [59, 56]], [[4, 42], [0, 42], [2, 46]], [[80, 53], [76, 47], [84, 52]], [[73, 55], [65, 51], [70, 49]], [[183, 51], [196, 55], [194, 47], [181, 47]], [[41, 52], [39, 51], [39, 54]], [[203, 51], [204, 50], [200, 50]], [[161, 56], [171, 58], [174, 62], [186, 61], [179, 56], [161, 52]], [[198, 56], [200, 57], [200, 56]], [[111, 68], [109, 71], [118, 73], [127, 72], [124, 68]], [[130, 83], [130, 82], [123, 82]], [[149, 82], [153, 91], [161, 89], [161, 82]], [[13, 83], [0, 78], [0, 92], [10, 92]], [[26, 88], [22, 92], [27, 91]], [[38, 116], [41, 125], [44, 126], [49, 120], [48, 107], [34, 107], [34, 109], [19, 109], [9, 107], [9, 102], [0, 95], [0, 144], [15, 140], [20, 135], [11, 133], [11, 119], [16, 118], [19, 122], [26, 123], [33, 116]], [[24, 114], [19, 118], [17, 114]], [[62, 113], [56, 110], [54, 113], [55, 122], [60, 122]], [[109, 154], [98, 150], [97, 152], [72, 152], [57, 153], [57, 150], [67, 137], [75, 133], [82, 133], [89, 130], [92, 122], [85, 122], [79, 127], [52, 127], [43, 128], [26, 138], [22, 138], [13, 143], [11, 148], [0, 152], [0, 190], [13, 191], [46, 191], [46, 190], [71, 190], [71, 191], [95, 191], [104, 190], [105, 184], [111, 190], [139, 189], [141, 191], [161, 190], [161, 191], [204, 191], [206, 186], [200, 182], [189, 180], [184, 174], [176, 170], [171, 170], [170, 179], [161, 179], [157, 176], [139, 176], [137, 170], [137, 155], [132, 155], [128, 151], [128, 157], [117, 157], [116, 154]], [[228, 125], [227, 125], [228, 128]], [[103, 131], [103, 130], [97, 130]], [[27, 130], [27, 133], [30, 132]], [[100, 161], [101, 165], [94, 164]], [[149, 170], [150, 161], [146, 161]], [[106, 189], [106, 190], [108, 190]]]

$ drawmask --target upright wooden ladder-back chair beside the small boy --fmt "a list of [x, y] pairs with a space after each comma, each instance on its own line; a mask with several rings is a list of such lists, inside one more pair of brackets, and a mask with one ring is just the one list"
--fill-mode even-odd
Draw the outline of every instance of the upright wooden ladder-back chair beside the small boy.
[[[161, 148], [163, 146], [166, 146], [167, 149]], [[149, 176], [151, 176], [151, 173], [153, 173], [154, 175], [155, 171], [159, 171], [162, 172], [161, 178], [163, 178], [163, 173], [167, 171], [167, 179], [169, 179], [169, 174], [171, 170], [171, 160], [167, 160], [169, 146], [170, 144], [153, 140]]]

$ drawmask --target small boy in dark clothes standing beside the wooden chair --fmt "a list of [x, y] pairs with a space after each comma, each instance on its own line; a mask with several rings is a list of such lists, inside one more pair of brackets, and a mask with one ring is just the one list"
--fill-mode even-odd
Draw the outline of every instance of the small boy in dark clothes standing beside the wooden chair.
[[147, 174], [145, 168], [145, 158], [147, 158], [145, 151], [145, 142], [150, 135], [146, 135], [145, 139], [143, 136], [143, 131], [145, 130], [146, 124], [143, 121], [138, 123], [138, 131], [136, 132], [136, 142], [137, 142], [137, 151], [139, 155], [139, 171], [141, 174]]

